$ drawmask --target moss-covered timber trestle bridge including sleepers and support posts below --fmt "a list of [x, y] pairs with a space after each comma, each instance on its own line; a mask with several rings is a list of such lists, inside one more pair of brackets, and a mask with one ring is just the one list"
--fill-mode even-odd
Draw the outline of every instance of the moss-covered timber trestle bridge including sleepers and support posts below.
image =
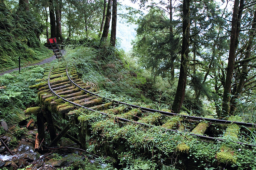
[[[51, 138], [47, 147], [57, 146], [61, 137], [67, 137], [77, 143], [81, 149], [86, 150], [88, 145], [86, 141], [91, 135], [91, 126], [88, 121], [85, 123], [79, 119], [81, 115], [74, 112], [79, 108], [84, 108], [86, 113], [103, 115], [104, 119], [111, 118], [112, 123], [118, 124], [120, 127], [125, 126], [125, 124], [135, 124], [144, 129], [153, 127], [159, 128], [159, 131], [177, 134], [186, 131], [188, 136], [206, 143], [225, 143], [227, 140], [225, 137], [232, 136], [234, 144], [249, 149], [255, 147], [254, 143], [245, 142], [246, 139], [239, 138], [240, 132], [243, 131], [248, 134], [248, 129], [254, 128], [252, 123], [174, 114], [169, 110], [158, 111], [105, 98], [98, 95], [95, 88], [82, 82], [75, 68], [66, 65], [47, 70], [42, 81], [42, 83], [30, 88], [39, 90], [38, 97], [41, 107], [37, 107], [37, 112], [39, 112], [37, 114], [38, 136], [42, 143], [45, 139], [45, 122], [47, 122], [47, 129]], [[165, 121], [160, 121], [159, 117], [164, 117]], [[60, 125], [56, 123], [56, 119], [66, 120], [67, 124], [62, 124], [63, 128], [61, 129]], [[84, 127], [79, 127], [79, 134], [72, 136], [69, 130], [78, 124], [80, 126], [83, 124]], [[102, 131], [100, 129], [100, 132]], [[181, 145], [183, 146], [181, 147]], [[189, 147], [184, 142], [177, 144], [176, 152], [187, 154]], [[226, 161], [228, 164], [229, 160], [223, 161], [223, 158], [218, 157], [218, 153], [222, 152], [226, 151], [224, 149], [216, 151], [216, 158], [219, 163]], [[233, 151], [229, 150], [228, 152], [232, 156]]]

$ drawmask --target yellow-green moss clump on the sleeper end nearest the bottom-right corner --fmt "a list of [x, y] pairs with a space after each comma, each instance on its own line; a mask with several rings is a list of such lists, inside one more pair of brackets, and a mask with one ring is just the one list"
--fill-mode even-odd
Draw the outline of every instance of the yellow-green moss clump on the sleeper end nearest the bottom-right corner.
[[221, 147], [221, 152], [218, 152], [216, 157], [218, 162], [224, 164], [236, 164], [237, 162], [236, 155], [227, 147]]

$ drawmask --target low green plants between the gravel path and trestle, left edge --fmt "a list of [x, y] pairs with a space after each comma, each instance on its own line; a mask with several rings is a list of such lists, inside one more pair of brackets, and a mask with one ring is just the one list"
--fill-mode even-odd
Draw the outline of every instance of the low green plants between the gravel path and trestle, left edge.
[[16, 121], [24, 118], [24, 110], [38, 102], [37, 89], [30, 85], [37, 84], [44, 68], [29, 66], [22, 72], [13, 71], [0, 76], [0, 118]]

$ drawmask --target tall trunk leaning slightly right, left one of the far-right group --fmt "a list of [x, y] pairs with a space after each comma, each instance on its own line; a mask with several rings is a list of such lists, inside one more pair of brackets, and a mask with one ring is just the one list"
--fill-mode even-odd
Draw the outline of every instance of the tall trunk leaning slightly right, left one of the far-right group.
[[[242, 16], [242, 9], [244, 0], [240, 1], [240, 8], [239, 8], [239, 0], [234, 1], [234, 9], [233, 9], [233, 17], [231, 23], [231, 36], [230, 36], [230, 49], [229, 49], [229, 56], [228, 56], [228, 67], [226, 73], [226, 81], [224, 86], [223, 92], [223, 100], [222, 100], [222, 113], [224, 116], [229, 115], [230, 107], [230, 92], [231, 92], [231, 83], [233, 78], [233, 71], [234, 71], [234, 62], [236, 58], [236, 50], [238, 46], [238, 37], [240, 32], [240, 20]], [[241, 9], [239, 11], [239, 9]], [[241, 15], [240, 15], [241, 14]]]

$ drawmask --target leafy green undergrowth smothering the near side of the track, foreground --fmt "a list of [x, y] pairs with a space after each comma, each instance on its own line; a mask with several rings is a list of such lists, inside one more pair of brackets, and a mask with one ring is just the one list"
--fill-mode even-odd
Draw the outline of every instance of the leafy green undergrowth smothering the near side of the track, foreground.
[[255, 147], [249, 149], [229, 140], [205, 142], [190, 136], [187, 131], [176, 133], [161, 126], [123, 123], [115, 119], [115, 115], [102, 115], [86, 109], [71, 113], [69, 121], [76, 115], [77, 126], [89, 128], [87, 137], [94, 141], [87, 144], [90, 151], [109, 156], [121, 169], [184, 169], [188, 165], [189, 169], [256, 168]]

